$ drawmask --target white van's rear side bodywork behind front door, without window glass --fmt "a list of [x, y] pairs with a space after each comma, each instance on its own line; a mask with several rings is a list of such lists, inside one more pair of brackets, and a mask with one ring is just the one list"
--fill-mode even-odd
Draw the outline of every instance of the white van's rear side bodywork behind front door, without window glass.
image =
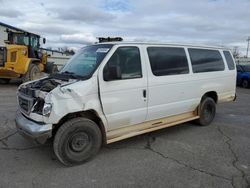
[[[145, 53], [147, 47], [144, 48]], [[166, 47], [174, 46], [166, 45]], [[192, 68], [188, 48], [185, 47], [185, 50], [189, 68]], [[221, 50], [219, 51], [221, 53]], [[149, 58], [146, 57], [149, 90], [147, 120], [194, 111], [200, 104], [202, 96], [210, 91], [217, 93], [218, 102], [232, 101], [235, 97], [236, 71], [229, 71], [224, 55], [221, 56], [225, 64], [223, 71], [193, 73], [190, 69], [189, 74], [168, 76], [153, 75]]]

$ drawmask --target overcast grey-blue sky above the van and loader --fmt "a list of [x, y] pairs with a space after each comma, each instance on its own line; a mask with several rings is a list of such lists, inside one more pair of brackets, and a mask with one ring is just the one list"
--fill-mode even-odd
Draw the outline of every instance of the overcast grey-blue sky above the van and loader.
[[0, 21], [38, 33], [54, 48], [122, 36], [239, 46], [245, 55], [250, 0], [0, 0]]

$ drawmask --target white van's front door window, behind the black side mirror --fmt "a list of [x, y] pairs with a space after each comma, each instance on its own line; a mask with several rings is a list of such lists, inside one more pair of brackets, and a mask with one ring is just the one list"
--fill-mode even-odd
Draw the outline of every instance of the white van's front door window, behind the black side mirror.
[[106, 78], [109, 78], [109, 74], [111, 76], [114, 69], [116, 75], [111, 80], [141, 78], [142, 69], [139, 49], [137, 47], [119, 47], [105, 65], [103, 74]]

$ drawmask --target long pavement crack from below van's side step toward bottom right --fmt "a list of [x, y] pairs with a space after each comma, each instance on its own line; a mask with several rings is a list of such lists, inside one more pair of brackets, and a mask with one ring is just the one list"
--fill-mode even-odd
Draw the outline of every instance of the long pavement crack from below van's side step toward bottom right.
[[155, 140], [156, 140], [155, 137], [152, 137], [152, 136], [149, 135], [148, 139], [147, 139], [147, 143], [146, 143], [145, 149], [148, 149], [148, 150], [152, 151], [153, 153], [156, 153], [157, 155], [161, 156], [164, 159], [172, 160], [172, 161], [178, 163], [179, 165], [184, 166], [186, 168], [189, 168], [189, 169], [191, 169], [193, 171], [198, 171], [200, 173], [203, 173], [203, 174], [206, 174], [206, 175], [209, 175], [209, 176], [212, 176], [212, 177], [217, 177], [217, 178], [220, 178], [220, 179], [224, 179], [226, 181], [231, 181], [230, 178], [227, 178], [227, 177], [224, 177], [224, 176], [220, 176], [220, 175], [217, 175], [217, 174], [214, 174], [214, 173], [211, 173], [211, 172], [199, 169], [199, 168], [195, 168], [195, 167], [190, 166], [190, 165], [188, 165], [188, 164], [186, 164], [186, 163], [184, 163], [182, 161], [179, 161], [179, 160], [177, 160], [177, 159], [175, 159], [173, 157], [166, 156], [166, 155], [162, 154], [161, 152], [156, 151], [155, 149], [152, 148], [152, 143], [155, 142]]

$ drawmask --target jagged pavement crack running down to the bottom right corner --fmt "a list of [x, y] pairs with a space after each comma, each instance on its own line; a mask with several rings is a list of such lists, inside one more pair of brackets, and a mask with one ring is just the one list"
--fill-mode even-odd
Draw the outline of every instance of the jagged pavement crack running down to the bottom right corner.
[[[234, 157], [234, 160], [232, 161], [233, 167], [234, 167], [238, 172], [241, 173], [241, 177], [242, 177], [243, 180], [246, 182], [247, 187], [250, 187], [250, 182], [248, 181], [248, 179], [247, 179], [247, 177], [246, 177], [246, 176], [247, 176], [246, 173], [244, 172], [244, 170], [241, 170], [241, 169], [237, 166], [237, 164], [236, 164], [237, 162], [239, 162], [239, 158], [238, 158], [236, 152], [233, 150], [232, 145], [231, 145], [231, 143], [230, 143], [230, 142], [232, 142], [232, 139], [231, 139], [227, 134], [225, 134], [219, 126], [216, 126], [216, 127], [217, 127], [217, 130], [219, 131], [219, 133], [220, 133], [224, 138], [227, 139], [227, 140], [225, 141], [225, 143], [227, 144], [228, 149], [230, 150], [230, 152], [232, 153], [232, 155], [233, 155], [233, 157]], [[238, 176], [232, 176], [232, 179], [231, 179], [231, 182], [232, 182], [233, 187], [236, 187], [236, 186], [235, 186], [235, 182], [234, 182], [234, 179], [235, 179], [236, 177], [238, 177]]]

